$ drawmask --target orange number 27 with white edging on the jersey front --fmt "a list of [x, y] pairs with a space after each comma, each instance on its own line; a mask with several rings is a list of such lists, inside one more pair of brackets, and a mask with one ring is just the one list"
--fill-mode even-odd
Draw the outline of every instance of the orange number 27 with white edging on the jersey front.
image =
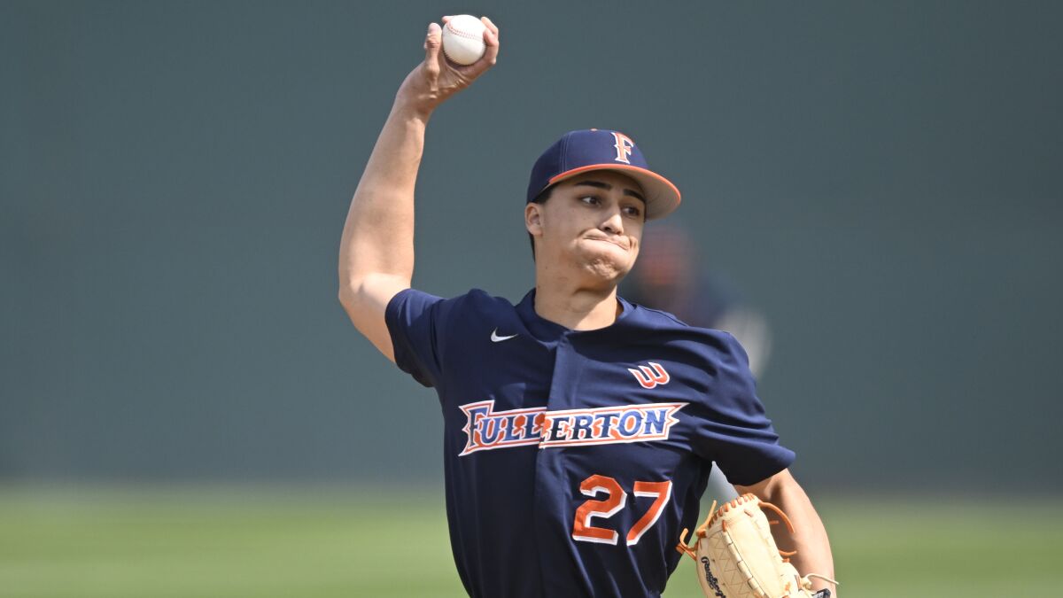
[[[579, 492], [584, 496], [591, 497], [590, 500], [584, 501], [583, 504], [576, 509], [576, 518], [572, 522], [572, 539], [579, 542], [594, 542], [598, 544], [612, 544], [615, 546], [617, 541], [620, 538], [620, 534], [615, 530], [610, 530], [606, 528], [596, 528], [591, 525], [592, 517], [601, 517], [603, 519], [608, 519], [617, 513], [620, 513], [627, 503], [627, 493], [624, 488], [620, 487], [617, 480], [606, 477], [594, 475], [587, 478], [579, 484]], [[596, 500], [593, 497], [598, 493], [606, 493], [605, 500]], [[653, 504], [649, 505], [649, 510], [646, 514], [642, 516], [641, 519], [636, 521], [635, 526], [627, 532], [627, 545], [634, 546], [638, 544], [639, 538], [642, 534], [646, 533], [646, 530], [653, 527], [657, 522], [657, 519], [661, 516], [661, 511], [664, 510], [664, 505], [668, 503], [669, 498], [672, 497], [672, 482], [635, 482], [635, 496], [653, 496]]]

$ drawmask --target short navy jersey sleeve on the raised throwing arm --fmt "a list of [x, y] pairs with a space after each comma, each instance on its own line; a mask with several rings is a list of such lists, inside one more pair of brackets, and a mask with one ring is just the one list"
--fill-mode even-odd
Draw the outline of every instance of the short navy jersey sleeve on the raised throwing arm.
[[445, 303], [441, 297], [407, 288], [391, 298], [384, 313], [395, 365], [425, 386], [436, 386], [442, 376], [443, 331], [450, 313]]

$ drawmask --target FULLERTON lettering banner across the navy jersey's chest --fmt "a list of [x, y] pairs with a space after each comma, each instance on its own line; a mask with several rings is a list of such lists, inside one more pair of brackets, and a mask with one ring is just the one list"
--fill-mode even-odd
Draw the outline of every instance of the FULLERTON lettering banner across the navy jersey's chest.
[[461, 405], [468, 421], [466, 455], [537, 445], [539, 448], [665, 441], [687, 403], [648, 403], [546, 411], [546, 408], [494, 411], [494, 401]]

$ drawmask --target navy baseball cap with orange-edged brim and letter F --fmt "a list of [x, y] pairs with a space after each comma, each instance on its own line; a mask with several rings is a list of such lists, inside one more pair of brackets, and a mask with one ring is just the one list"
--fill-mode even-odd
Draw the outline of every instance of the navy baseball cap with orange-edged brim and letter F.
[[646, 196], [646, 219], [661, 218], [679, 205], [679, 189], [649, 169], [642, 150], [620, 131], [569, 131], [539, 156], [528, 182], [530, 203], [546, 187], [589, 170], [615, 170], [635, 179]]

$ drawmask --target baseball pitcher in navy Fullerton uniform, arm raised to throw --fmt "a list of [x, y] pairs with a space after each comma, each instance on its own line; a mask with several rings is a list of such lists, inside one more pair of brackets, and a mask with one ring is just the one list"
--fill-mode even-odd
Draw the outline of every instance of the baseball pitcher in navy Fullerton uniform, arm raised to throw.
[[797, 550], [798, 570], [832, 577], [826, 532], [787, 469], [794, 453], [764, 415], [742, 348], [617, 296], [645, 221], [680, 199], [629, 136], [573, 131], [535, 163], [524, 225], [536, 280], [518, 304], [410, 287], [425, 127], [494, 65], [499, 29], [483, 20], [487, 51], [463, 67], [428, 27], [424, 62], [402, 83], [354, 194], [339, 260], [354, 326], [439, 395], [466, 589], [659, 596], [713, 461], [740, 492], [789, 514], [796, 534], [778, 542]]

